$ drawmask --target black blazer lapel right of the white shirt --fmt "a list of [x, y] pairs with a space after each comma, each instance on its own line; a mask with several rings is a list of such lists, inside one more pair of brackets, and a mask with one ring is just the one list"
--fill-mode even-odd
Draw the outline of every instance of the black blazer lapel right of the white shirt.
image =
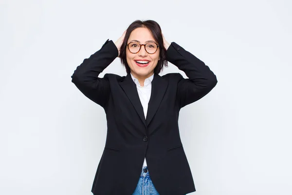
[[158, 74], [154, 74], [154, 78], [151, 82], [151, 96], [148, 103], [146, 126], [149, 125], [155, 113], [157, 112], [157, 109], [164, 97], [166, 88], [167, 82]]

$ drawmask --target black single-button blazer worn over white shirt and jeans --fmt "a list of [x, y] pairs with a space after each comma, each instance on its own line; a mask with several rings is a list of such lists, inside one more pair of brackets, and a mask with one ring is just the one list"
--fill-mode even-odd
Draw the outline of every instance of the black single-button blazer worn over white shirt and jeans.
[[200, 59], [172, 42], [167, 60], [184, 71], [154, 74], [145, 119], [136, 84], [130, 74], [98, 75], [117, 58], [112, 40], [84, 59], [72, 82], [102, 106], [107, 116], [106, 144], [91, 192], [94, 195], [131, 195], [138, 183], [144, 157], [151, 180], [160, 195], [196, 191], [181, 142], [178, 118], [182, 107], [208, 94], [217, 84], [214, 73]]

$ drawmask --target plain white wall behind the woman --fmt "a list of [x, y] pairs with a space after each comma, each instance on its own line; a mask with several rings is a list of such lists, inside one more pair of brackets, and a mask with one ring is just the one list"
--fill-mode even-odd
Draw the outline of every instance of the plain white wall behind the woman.
[[[291, 195], [291, 10], [289, 0], [1, 0], [0, 194], [91, 195], [106, 118], [71, 75], [134, 20], [155, 20], [218, 78], [180, 113], [192, 194]], [[126, 75], [119, 59], [105, 73]]]

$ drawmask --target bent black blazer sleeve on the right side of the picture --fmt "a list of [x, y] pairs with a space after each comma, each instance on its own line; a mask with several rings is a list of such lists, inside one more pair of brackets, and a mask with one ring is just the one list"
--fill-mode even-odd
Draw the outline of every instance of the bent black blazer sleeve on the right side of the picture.
[[218, 81], [210, 68], [177, 43], [171, 42], [166, 58], [188, 77], [185, 79], [179, 74], [177, 98], [180, 108], [201, 99], [216, 86]]

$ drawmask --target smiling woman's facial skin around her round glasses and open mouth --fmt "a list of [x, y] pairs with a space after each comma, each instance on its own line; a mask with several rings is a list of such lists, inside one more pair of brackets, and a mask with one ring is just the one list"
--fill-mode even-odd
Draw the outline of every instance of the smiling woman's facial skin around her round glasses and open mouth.
[[[152, 37], [151, 32], [147, 28], [136, 28], [130, 34], [130, 37], [127, 43], [138, 42], [140, 44], [146, 44], [146, 41], [155, 42], [155, 39]], [[148, 78], [154, 73], [154, 68], [156, 67], [158, 60], [160, 60], [160, 49], [158, 47], [157, 51], [154, 54], [148, 54], [145, 50], [145, 47], [142, 46], [140, 51], [136, 54], [132, 54], [127, 46], [126, 56], [127, 62], [131, 69], [131, 74], [135, 78]], [[139, 64], [136, 61], [149, 61], [148, 64]]]

